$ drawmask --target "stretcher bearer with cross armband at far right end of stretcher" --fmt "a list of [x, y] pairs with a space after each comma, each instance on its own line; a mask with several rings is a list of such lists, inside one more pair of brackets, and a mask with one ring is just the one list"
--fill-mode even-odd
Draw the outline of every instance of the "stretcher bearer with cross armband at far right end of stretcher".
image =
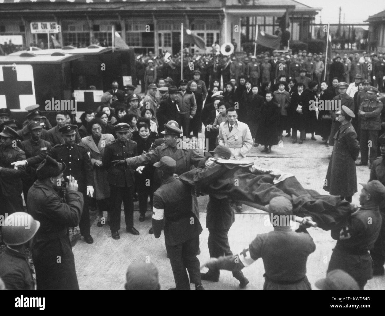
[[378, 180], [360, 183], [360, 208], [331, 229], [331, 238], [337, 243], [331, 254], [328, 273], [341, 269], [350, 274], [363, 289], [373, 277], [372, 259], [368, 250], [373, 249], [380, 233], [382, 218], [380, 203], [385, 198], [385, 186]]

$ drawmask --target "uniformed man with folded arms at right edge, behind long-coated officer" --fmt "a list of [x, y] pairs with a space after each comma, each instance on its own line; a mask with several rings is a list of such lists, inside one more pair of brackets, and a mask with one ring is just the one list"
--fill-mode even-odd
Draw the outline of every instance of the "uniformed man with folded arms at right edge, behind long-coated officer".
[[[361, 161], [357, 163], [357, 166], [366, 166], [369, 159], [369, 168], [372, 168], [373, 161], [377, 158], [378, 131], [381, 130], [380, 116], [383, 108], [382, 102], [377, 100], [377, 93], [377, 88], [371, 86], [358, 109], [361, 119]], [[368, 151], [370, 151], [370, 156]]]

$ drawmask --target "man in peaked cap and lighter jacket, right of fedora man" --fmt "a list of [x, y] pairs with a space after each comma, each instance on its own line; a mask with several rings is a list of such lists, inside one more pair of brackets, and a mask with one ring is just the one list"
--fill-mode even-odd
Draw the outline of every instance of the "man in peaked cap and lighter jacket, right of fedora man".
[[179, 95], [178, 95], [178, 123], [183, 128], [183, 136], [189, 136], [190, 121], [196, 114], [196, 100], [192, 91], [187, 90], [188, 81], [182, 79], [179, 81]]

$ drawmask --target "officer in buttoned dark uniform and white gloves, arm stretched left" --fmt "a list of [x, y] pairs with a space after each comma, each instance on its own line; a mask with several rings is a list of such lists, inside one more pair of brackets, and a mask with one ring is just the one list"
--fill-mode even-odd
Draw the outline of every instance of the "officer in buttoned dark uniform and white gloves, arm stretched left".
[[46, 156], [50, 156], [60, 163], [65, 163], [64, 176], [75, 176], [79, 185], [79, 192], [83, 194], [84, 208], [79, 222], [80, 234], [88, 244], [92, 244], [94, 239], [90, 235], [90, 215], [88, 209], [87, 196], [94, 194], [94, 173], [90, 160], [90, 152], [82, 145], [75, 143], [77, 132], [76, 125], [64, 125], [59, 129], [64, 138], [64, 144], [58, 144], [52, 147], [47, 153], [40, 153], [37, 156], [30, 157], [27, 160], [13, 163], [15, 166], [35, 166], [41, 163]]

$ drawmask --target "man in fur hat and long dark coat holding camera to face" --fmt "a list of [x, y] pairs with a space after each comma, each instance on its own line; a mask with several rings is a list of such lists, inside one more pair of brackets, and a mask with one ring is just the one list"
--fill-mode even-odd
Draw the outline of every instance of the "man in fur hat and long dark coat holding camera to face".
[[65, 170], [64, 163], [46, 156], [36, 169], [38, 180], [29, 189], [28, 210], [41, 224], [32, 244], [38, 290], [79, 289], [69, 227], [79, 224], [83, 195], [77, 191], [73, 176], [69, 177], [64, 198], [59, 195]]

